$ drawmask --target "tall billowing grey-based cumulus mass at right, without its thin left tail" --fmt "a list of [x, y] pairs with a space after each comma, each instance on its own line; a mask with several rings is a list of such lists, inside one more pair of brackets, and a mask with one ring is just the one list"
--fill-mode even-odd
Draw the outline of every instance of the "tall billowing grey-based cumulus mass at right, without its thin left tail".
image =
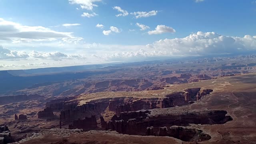
[[239, 54], [256, 50], [256, 37], [230, 37], [215, 32], [197, 32], [185, 38], [164, 39], [148, 45], [166, 55]]

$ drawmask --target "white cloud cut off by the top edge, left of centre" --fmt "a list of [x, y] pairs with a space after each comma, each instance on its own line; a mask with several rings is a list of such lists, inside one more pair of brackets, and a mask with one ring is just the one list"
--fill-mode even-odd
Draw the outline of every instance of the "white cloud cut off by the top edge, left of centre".
[[93, 7], [97, 7], [98, 5], [95, 2], [100, 2], [101, 0], [68, 0], [70, 4], [80, 4], [82, 9], [92, 10]]

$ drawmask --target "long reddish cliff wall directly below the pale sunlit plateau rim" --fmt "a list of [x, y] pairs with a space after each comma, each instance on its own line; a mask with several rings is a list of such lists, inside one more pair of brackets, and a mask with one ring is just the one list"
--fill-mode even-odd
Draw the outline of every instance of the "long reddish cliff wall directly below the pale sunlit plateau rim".
[[86, 102], [85, 104], [69, 100], [63, 103], [63, 108], [65, 109], [60, 112], [60, 120], [67, 121], [90, 117], [91, 115], [104, 112], [107, 108], [109, 111], [116, 112], [117, 116], [119, 116], [121, 112], [184, 106], [191, 104], [192, 101], [196, 101], [210, 92], [210, 90], [203, 91], [200, 88], [190, 88], [183, 92], [168, 94], [165, 98], [102, 98]]

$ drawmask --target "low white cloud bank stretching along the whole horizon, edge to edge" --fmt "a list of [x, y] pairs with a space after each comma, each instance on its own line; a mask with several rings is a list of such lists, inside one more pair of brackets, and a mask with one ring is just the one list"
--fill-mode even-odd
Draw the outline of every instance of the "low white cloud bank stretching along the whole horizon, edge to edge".
[[[113, 30], [115, 28], [112, 28]], [[111, 30], [105, 32], [111, 33]], [[106, 33], [107, 34], [107, 33]], [[210, 56], [221, 54], [241, 54], [256, 52], [256, 36], [244, 37], [224, 36], [216, 32], [196, 32], [184, 38], [163, 39], [147, 45], [104, 45], [104, 44], [76, 44], [77, 49], [93, 50], [88, 56], [80, 53], [65, 54], [63, 52], [24, 52], [11, 50], [0, 46], [0, 61], [6, 60], [90, 60], [101, 63], [111, 61], [139, 61], [157, 58], [178, 58], [189, 56]], [[67, 47], [72, 47], [68, 44]], [[16, 64], [15, 62], [15, 64]], [[48, 62], [49, 63], [49, 62]], [[5, 63], [3, 63], [5, 64]], [[3, 66], [2, 66], [3, 67]]]

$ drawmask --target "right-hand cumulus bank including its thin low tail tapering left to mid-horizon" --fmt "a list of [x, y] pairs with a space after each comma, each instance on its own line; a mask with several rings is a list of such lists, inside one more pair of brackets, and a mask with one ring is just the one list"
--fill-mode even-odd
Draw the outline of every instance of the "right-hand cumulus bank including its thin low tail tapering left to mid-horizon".
[[[121, 46], [120, 46], [121, 47]], [[158, 40], [138, 51], [115, 52], [102, 56], [107, 61], [142, 60], [143, 58], [170, 58], [209, 56], [256, 52], [256, 36], [232, 37], [216, 32], [197, 32], [185, 38]]]

